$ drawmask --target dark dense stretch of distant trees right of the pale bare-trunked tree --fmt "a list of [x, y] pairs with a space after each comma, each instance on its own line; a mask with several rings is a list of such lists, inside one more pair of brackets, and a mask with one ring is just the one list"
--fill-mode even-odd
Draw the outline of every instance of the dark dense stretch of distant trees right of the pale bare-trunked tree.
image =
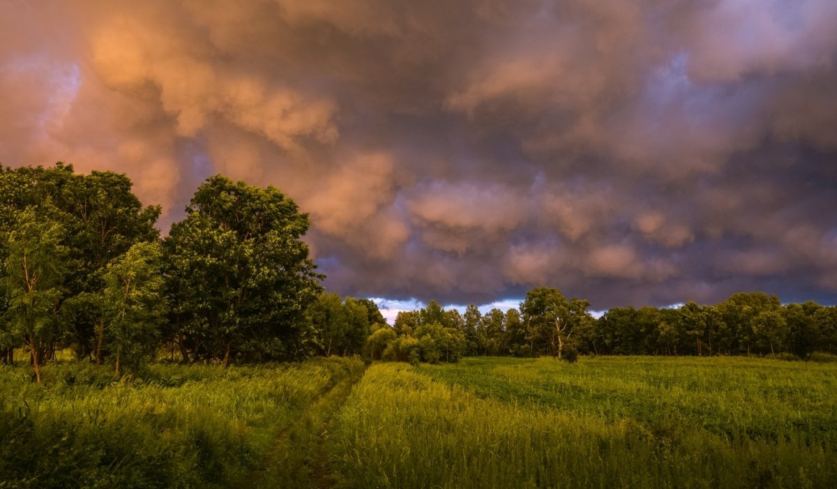
[[837, 307], [782, 306], [763, 292], [737, 293], [715, 306], [614, 307], [574, 328], [579, 353], [619, 355], [771, 355], [837, 353]]

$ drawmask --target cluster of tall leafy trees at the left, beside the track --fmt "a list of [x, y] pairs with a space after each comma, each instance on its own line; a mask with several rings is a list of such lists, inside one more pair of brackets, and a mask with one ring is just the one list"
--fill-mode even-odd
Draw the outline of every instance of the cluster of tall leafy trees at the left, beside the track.
[[125, 175], [0, 167], [0, 355], [55, 352], [137, 368], [162, 345], [185, 362], [297, 359], [322, 275], [310, 223], [279, 190], [209, 178], [161, 239]]

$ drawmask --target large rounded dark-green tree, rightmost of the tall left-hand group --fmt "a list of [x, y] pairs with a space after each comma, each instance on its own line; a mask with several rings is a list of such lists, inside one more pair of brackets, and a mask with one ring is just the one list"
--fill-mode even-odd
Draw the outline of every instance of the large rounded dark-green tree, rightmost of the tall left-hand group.
[[239, 354], [299, 358], [304, 313], [320, 295], [301, 240], [310, 223], [273, 187], [217, 175], [203, 183], [166, 239], [177, 340], [192, 359]]

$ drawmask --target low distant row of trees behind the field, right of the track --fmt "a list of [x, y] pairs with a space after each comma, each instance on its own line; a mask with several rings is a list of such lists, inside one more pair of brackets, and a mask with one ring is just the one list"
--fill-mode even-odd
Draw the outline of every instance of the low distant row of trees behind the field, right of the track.
[[[481, 314], [471, 304], [460, 314], [430, 301], [419, 311], [399, 312], [392, 331], [376, 332], [369, 342], [380, 358], [406, 360], [412, 354], [421, 361], [480, 355], [574, 361], [578, 354], [803, 359], [815, 352], [837, 354], [837, 307], [811, 301], [782, 305], [764, 292], [740, 292], [714, 306], [616, 307], [598, 319], [588, 308], [588, 301], [567, 299], [549, 287], [532, 289], [519, 309], [505, 312]], [[444, 358], [434, 353], [440, 332], [457, 338], [441, 342], [454, 347]]]

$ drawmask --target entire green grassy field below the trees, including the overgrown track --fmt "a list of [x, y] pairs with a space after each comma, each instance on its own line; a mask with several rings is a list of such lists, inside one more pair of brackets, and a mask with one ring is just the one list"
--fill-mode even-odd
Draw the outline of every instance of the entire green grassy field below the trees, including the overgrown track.
[[0, 487], [834, 487], [837, 363], [0, 367]]

